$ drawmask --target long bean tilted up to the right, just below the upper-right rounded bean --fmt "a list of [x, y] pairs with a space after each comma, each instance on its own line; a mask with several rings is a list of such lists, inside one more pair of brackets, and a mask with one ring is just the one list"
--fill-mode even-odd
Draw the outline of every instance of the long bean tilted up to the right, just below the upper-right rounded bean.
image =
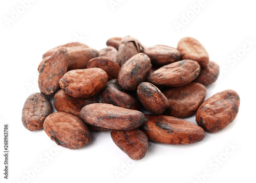
[[194, 60], [181, 60], [164, 65], [150, 76], [153, 84], [179, 87], [184, 86], [200, 73], [200, 65]]

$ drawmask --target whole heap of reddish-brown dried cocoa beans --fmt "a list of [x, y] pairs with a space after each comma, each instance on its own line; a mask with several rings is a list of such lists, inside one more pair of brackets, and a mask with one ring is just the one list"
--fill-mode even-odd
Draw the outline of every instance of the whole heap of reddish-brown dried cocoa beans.
[[[23, 107], [23, 125], [44, 129], [57, 145], [79, 149], [91, 131], [109, 131], [130, 158], [145, 156], [148, 140], [184, 145], [200, 142], [237, 116], [240, 98], [227, 89], [205, 100], [206, 86], [219, 76], [193, 37], [145, 47], [132, 36], [113, 37], [97, 51], [80, 42], [60, 45], [38, 66], [41, 93]], [[53, 113], [49, 96], [57, 112]], [[198, 125], [182, 118], [196, 114]], [[96, 134], [96, 133], [95, 133]]]

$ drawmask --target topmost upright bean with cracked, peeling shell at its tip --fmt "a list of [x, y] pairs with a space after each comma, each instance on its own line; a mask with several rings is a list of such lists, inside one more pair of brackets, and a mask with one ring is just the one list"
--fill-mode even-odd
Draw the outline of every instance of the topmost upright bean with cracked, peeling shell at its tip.
[[119, 45], [117, 63], [122, 66], [127, 60], [142, 51], [143, 47], [138, 39], [132, 36], [125, 36]]

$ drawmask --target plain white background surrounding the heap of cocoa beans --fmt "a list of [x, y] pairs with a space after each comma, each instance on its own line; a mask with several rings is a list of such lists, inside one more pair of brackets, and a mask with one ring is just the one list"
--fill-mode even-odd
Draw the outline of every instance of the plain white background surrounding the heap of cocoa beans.
[[[200, 2], [1, 1], [0, 182], [255, 182], [255, 5], [249, 0]], [[183, 23], [180, 29], [178, 22]], [[100, 50], [110, 37], [126, 35], [146, 46], [176, 47], [182, 37], [198, 39], [221, 66], [221, 77], [207, 87], [206, 98], [236, 90], [241, 98], [237, 118], [220, 132], [206, 133], [200, 143], [150, 142], [140, 161], [131, 161], [113, 143], [110, 132], [93, 132], [90, 144], [70, 150], [57, 149], [44, 130], [24, 128], [22, 108], [26, 98], [39, 91], [37, 66], [42, 54], [72, 41]], [[187, 120], [196, 123], [195, 116]], [[7, 181], [4, 123], [10, 131]]]

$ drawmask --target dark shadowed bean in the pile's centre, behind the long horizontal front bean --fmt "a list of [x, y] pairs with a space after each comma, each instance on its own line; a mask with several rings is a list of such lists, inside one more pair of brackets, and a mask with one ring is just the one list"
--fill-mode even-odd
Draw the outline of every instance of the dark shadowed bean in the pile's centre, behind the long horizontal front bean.
[[125, 93], [117, 79], [113, 79], [106, 83], [105, 88], [100, 92], [100, 99], [102, 103], [113, 104], [127, 109], [140, 110], [140, 104], [137, 99], [132, 95]]

